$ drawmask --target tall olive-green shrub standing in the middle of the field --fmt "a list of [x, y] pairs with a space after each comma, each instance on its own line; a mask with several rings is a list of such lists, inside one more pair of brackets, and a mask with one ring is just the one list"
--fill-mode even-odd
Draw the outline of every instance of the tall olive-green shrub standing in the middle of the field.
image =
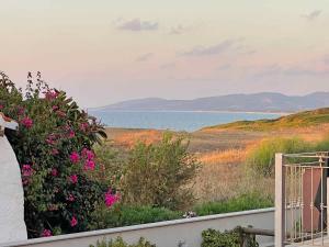
[[123, 201], [136, 205], [182, 209], [193, 200], [198, 161], [189, 142], [166, 133], [158, 144], [138, 143], [131, 151], [122, 182]]

